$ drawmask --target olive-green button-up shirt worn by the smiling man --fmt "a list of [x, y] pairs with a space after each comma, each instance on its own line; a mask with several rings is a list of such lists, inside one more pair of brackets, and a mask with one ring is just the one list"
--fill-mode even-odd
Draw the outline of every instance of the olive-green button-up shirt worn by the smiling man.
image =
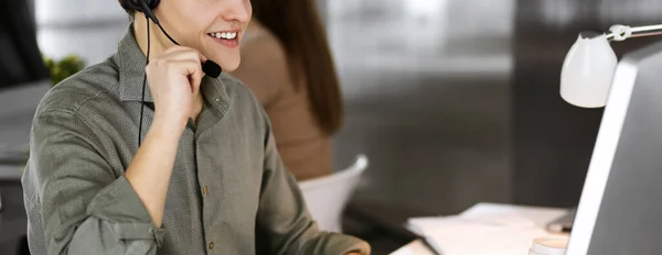
[[115, 55], [38, 108], [22, 179], [32, 254], [370, 253], [357, 239], [318, 231], [261, 107], [227, 75], [202, 80], [204, 107], [181, 135], [156, 228], [124, 176], [139, 124], [145, 136], [153, 117], [146, 91], [138, 123], [146, 58], [130, 27]]

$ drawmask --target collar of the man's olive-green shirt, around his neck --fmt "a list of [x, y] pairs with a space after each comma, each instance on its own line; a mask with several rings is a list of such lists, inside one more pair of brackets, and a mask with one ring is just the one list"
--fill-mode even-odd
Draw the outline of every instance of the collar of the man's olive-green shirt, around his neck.
[[[119, 41], [114, 58], [119, 68], [120, 100], [141, 101], [147, 57], [136, 41], [134, 23], [129, 24], [124, 37]], [[200, 85], [205, 101], [221, 115], [225, 114], [229, 104], [229, 98], [222, 81], [223, 76], [224, 74], [218, 78], [204, 76]], [[149, 82], [146, 81], [145, 86], [145, 102], [153, 102]]]

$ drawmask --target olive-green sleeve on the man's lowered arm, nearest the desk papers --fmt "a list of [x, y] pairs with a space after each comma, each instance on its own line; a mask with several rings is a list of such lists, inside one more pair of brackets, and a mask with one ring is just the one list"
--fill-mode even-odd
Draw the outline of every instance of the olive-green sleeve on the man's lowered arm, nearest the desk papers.
[[[270, 126], [268, 120], [266, 123]], [[370, 245], [360, 239], [318, 230], [297, 181], [278, 155], [270, 130], [266, 132], [265, 146], [257, 247], [267, 251], [259, 254], [370, 254]]]

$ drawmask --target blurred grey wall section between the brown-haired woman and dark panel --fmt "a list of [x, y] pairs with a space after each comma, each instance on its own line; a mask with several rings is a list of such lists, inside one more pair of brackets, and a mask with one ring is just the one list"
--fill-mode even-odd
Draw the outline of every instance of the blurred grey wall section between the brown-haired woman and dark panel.
[[359, 204], [453, 213], [509, 202], [512, 0], [333, 0], [345, 97], [338, 167], [370, 168]]

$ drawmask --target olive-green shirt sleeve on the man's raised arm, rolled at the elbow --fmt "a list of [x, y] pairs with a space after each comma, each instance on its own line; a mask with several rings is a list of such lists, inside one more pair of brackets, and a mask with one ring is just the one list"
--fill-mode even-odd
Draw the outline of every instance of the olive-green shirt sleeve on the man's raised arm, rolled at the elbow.
[[32, 254], [156, 254], [163, 230], [74, 112], [39, 113], [23, 174]]

